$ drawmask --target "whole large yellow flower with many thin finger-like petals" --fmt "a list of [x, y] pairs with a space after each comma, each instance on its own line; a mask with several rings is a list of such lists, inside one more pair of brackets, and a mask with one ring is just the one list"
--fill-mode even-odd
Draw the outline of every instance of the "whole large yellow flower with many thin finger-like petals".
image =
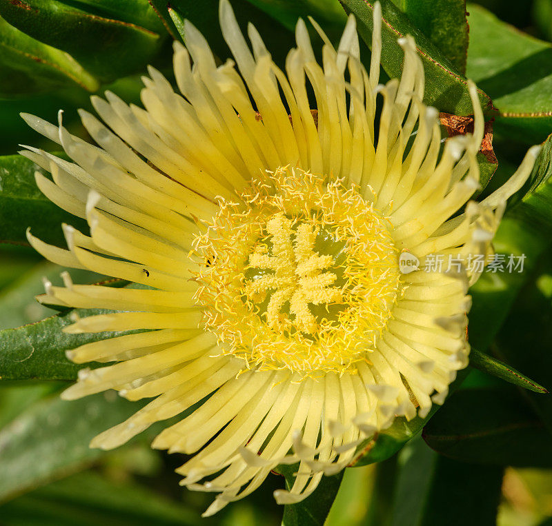
[[[378, 83], [378, 4], [369, 72], [353, 17], [337, 50], [313, 22], [322, 65], [299, 21], [285, 73], [249, 26], [252, 52], [226, 0], [220, 23], [235, 62], [217, 65], [186, 23], [186, 48], [175, 43], [174, 54], [181, 94], [150, 68], [145, 110], [107, 92], [92, 97], [103, 123], [80, 112], [97, 145], [61, 117], [55, 126], [24, 116], [74, 162], [22, 152], [51, 172], [37, 172], [43, 193], [90, 225], [90, 236], [63, 225], [67, 250], [29, 233], [30, 243], [60, 265], [135, 284], [74, 285], [66, 273], [65, 286], [46, 283], [43, 303], [116, 311], [66, 327], [113, 336], [68, 352], [107, 365], [81, 370], [63, 397], [153, 398], [92, 441], [105, 449], [186, 412], [153, 447], [192, 455], [178, 472], [191, 489], [219, 493], [208, 515], [279, 463], [299, 467], [277, 501], [302, 500], [395, 416], [442, 403], [469, 354], [466, 294], [477, 273], [465, 262], [489, 253], [538, 153], [469, 201], [484, 130], [475, 85], [473, 134], [443, 145], [411, 37], [400, 39], [400, 81]], [[405, 251], [419, 270], [401, 272]], [[463, 263], [424, 272], [435, 254]]]

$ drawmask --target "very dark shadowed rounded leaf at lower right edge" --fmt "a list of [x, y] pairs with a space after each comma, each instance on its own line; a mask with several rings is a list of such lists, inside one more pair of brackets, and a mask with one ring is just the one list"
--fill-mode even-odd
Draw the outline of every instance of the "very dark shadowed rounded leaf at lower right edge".
[[463, 462], [552, 467], [552, 436], [513, 388], [456, 392], [422, 436], [438, 453]]

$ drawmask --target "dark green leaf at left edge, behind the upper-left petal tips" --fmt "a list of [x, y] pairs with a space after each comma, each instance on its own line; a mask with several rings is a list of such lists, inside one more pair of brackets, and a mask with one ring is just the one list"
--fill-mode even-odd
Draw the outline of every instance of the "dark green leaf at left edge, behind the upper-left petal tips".
[[47, 243], [65, 245], [61, 223], [87, 230], [86, 222], [48, 200], [34, 181], [34, 172], [46, 173], [20, 155], [0, 156], [1, 242], [27, 243], [26, 230]]

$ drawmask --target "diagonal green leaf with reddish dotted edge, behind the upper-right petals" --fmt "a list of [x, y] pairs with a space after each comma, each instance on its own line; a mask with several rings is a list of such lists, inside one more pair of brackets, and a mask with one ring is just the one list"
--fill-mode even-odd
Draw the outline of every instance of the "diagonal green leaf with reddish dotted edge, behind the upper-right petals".
[[[347, 12], [357, 17], [358, 32], [362, 39], [372, 45], [373, 3], [366, 0], [339, 0]], [[403, 51], [397, 39], [411, 34], [416, 40], [426, 75], [424, 103], [435, 106], [442, 112], [455, 115], [473, 114], [466, 79], [444, 54], [402, 13], [391, 0], [382, 0], [382, 66], [389, 77], [400, 77]], [[479, 90], [484, 110], [492, 110], [491, 99]]]

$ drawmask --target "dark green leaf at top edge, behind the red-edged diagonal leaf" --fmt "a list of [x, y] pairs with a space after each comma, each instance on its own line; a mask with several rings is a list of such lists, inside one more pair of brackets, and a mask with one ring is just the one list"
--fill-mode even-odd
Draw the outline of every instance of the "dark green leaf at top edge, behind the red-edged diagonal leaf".
[[469, 40], [466, 0], [393, 1], [458, 71], [466, 72]]

